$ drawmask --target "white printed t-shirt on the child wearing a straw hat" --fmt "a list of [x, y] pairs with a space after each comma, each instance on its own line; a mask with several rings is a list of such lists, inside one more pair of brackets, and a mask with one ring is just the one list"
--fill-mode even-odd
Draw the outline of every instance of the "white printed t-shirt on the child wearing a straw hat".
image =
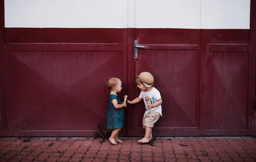
[[153, 103], [156, 103], [157, 100], [159, 100], [161, 98], [160, 92], [155, 87], [153, 87], [151, 89], [151, 91], [149, 91], [149, 92], [141, 91], [140, 95], [139, 95], [139, 98], [143, 98], [143, 101], [145, 103], [145, 108], [146, 108], [146, 111], [145, 111], [146, 114], [148, 114], [148, 112], [159, 112], [160, 115], [163, 116], [161, 105], [159, 105], [157, 107], [154, 107], [150, 111], [148, 111], [148, 106], [147, 106], [147, 103], [145, 101], [145, 97], [147, 97], [147, 96], [150, 98], [149, 99], [150, 103], [153, 104]]

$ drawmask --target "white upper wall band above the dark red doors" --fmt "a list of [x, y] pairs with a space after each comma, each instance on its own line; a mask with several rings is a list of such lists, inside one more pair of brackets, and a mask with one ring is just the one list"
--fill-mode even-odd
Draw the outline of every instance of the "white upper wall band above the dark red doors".
[[250, 0], [5, 0], [5, 27], [249, 29]]

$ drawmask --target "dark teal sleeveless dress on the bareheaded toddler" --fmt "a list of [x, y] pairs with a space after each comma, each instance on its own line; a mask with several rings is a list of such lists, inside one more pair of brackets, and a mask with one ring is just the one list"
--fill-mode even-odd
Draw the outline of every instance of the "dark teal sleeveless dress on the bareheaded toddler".
[[123, 128], [124, 126], [124, 110], [123, 108], [116, 109], [113, 103], [111, 103], [113, 99], [116, 99], [118, 104], [122, 104], [120, 98], [117, 95], [110, 94], [108, 96], [106, 129], [117, 129]]

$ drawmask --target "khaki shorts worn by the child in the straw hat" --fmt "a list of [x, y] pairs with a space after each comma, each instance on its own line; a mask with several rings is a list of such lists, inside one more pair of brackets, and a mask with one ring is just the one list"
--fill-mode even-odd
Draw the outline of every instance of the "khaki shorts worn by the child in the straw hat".
[[154, 123], [156, 123], [159, 118], [160, 118], [159, 112], [149, 112], [148, 114], [145, 113], [142, 120], [143, 128], [145, 127], [153, 128]]

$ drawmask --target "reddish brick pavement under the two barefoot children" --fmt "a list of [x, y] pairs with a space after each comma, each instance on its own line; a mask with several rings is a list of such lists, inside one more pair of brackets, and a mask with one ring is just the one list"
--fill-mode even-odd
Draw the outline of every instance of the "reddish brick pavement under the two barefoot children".
[[154, 146], [136, 138], [111, 145], [101, 139], [0, 139], [0, 162], [256, 162], [256, 139], [157, 138]]

